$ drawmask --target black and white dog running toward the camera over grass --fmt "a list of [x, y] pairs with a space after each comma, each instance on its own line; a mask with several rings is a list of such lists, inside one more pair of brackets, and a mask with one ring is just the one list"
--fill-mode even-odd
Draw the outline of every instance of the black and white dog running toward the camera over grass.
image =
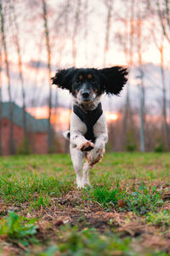
[[[77, 187], [89, 185], [88, 171], [102, 159], [108, 140], [107, 125], [101, 107], [102, 94], [118, 95], [127, 82], [127, 68], [62, 69], [53, 84], [69, 90], [73, 97], [70, 137], [71, 160], [77, 172]], [[83, 165], [83, 159], [86, 162]], [[83, 171], [82, 171], [83, 165]]]

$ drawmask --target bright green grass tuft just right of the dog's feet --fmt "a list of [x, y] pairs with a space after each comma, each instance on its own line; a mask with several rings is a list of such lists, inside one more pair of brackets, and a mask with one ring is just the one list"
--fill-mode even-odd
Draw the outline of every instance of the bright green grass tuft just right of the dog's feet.
[[122, 200], [125, 194], [125, 191], [119, 188], [119, 183], [116, 183], [116, 187], [113, 189], [102, 186], [89, 189], [88, 199], [99, 202], [103, 207], [111, 208], [115, 207], [117, 201]]

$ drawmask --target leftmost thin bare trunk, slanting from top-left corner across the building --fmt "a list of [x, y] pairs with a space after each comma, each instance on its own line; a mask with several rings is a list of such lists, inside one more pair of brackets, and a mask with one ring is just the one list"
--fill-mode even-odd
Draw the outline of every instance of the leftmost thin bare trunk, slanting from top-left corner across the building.
[[8, 63], [8, 49], [6, 44], [6, 34], [5, 34], [5, 27], [4, 27], [4, 15], [3, 15], [3, 5], [2, 0], [0, 0], [0, 18], [1, 18], [1, 33], [3, 39], [3, 49], [4, 49], [4, 57], [5, 57], [5, 64], [6, 64], [6, 75], [8, 79], [8, 100], [9, 100], [9, 122], [10, 122], [10, 154], [14, 154], [14, 125], [13, 125], [13, 102], [11, 96], [11, 83], [10, 83], [10, 76], [9, 76], [9, 63]]

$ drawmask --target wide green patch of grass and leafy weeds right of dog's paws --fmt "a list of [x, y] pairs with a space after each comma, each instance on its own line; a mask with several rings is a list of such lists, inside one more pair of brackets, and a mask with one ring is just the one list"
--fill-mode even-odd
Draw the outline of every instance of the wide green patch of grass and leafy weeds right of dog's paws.
[[[133, 211], [144, 215], [147, 212], [155, 212], [158, 207], [163, 205], [161, 194], [156, 191], [156, 186], [148, 186], [144, 182], [140, 183], [139, 188], [133, 188], [133, 191], [126, 191], [126, 188], [120, 189], [116, 182], [115, 187], [96, 186], [88, 187], [83, 190], [83, 200], [95, 201], [105, 210], [118, 208], [119, 211]], [[117, 203], [120, 203], [120, 207]]]

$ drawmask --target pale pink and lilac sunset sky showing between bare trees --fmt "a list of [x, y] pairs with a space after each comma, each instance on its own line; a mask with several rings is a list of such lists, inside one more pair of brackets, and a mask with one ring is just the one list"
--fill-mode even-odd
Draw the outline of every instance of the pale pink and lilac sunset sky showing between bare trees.
[[[136, 2], [136, 8], [141, 3]], [[52, 76], [54, 71], [61, 67], [71, 67], [73, 60], [71, 55], [72, 41], [71, 35], [74, 28], [74, 15], [76, 6], [71, 2], [71, 11], [68, 14], [68, 25], [65, 26], [64, 7], [67, 0], [48, 0], [48, 28], [49, 38], [51, 44], [51, 61], [52, 61]], [[87, 5], [88, 3], [88, 5]], [[111, 67], [114, 65], [128, 66], [127, 59], [123, 52], [122, 45], [117, 41], [117, 33], [125, 35], [127, 33], [126, 23], [129, 26], [129, 14], [127, 13], [128, 1], [113, 1], [113, 10], [111, 13], [111, 31], [109, 37], [109, 49], [106, 55], [105, 66]], [[20, 49], [23, 61], [23, 73], [26, 89], [26, 102], [28, 107], [40, 107], [46, 105], [48, 97], [48, 70], [47, 70], [47, 51], [44, 37], [44, 27], [42, 20], [42, 2], [40, 0], [31, 1], [15, 1], [15, 11], [17, 22], [19, 26]], [[8, 59], [10, 61], [10, 76], [12, 83], [12, 97], [15, 102], [22, 105], [20, 79], [17, 66], [17, 53], [14, 45], [14, 24], [11, 21], [11, 14], [6, 14], [6, 38], [8, 46]], [[103, 67], [104, 63], [104, 46], [105, 46], [105, 29], [107, 19], [107, 8], [102, 0], [82, 1], [82, 6], [79, 10], [79, 25], [77, 26], [77, 67]], [[123, 23], [122, 19], [126, 22]], [[146, 75], [146, 84], [148, 88], [150, 84], [155, 85], [161, 81], [161, 73], [159, 71], [160, 55], [156, 44], [152, 38], [152, 32], [156, 32], [157, 43], [161, 43], [161, 26], [159, 20], [156, 20], [154, 15], [147, 15], [142, 22], [142, 59], [144, 63], [144, 73]], [[164, 39], [164, 63], [167, 73], [167, 84], [169, 80], [170, 67], [170, 50], [169, 44]], [[134, 49], [133, 67], [137, 67], [138, 52]], [[3, 55], [4, 61], [4, 55]], [[151, 63], [152, 66], [148, 65]], [[151, 69], [150, 69], [151, 68]], [[157, 73], [159, 72], [159, 73]], [[129, 79], [132, 84], [133, 102], [138, 106], [138, 88], [135, 86], [134, 71]], [[149, 77], [150, 76], [150, 77]], [[159, 86], [158, 82], [158, 86]], [[156, 84], [157, 86], [157, 84]], [[3, 100], [8, 100], [7, 79], [5, 74], [5, 65], [3, 62]], [[157, 92], [149, 91], [148, 99], [155, 101]], [[71, 99], [68, 92], [56, 89], [53, 86], [53, 97], [58, 96], [60, 105], [65, 107], [71, 106]], [[159, 94], [159, 90], [158, 94]], [[122, 92], [121, 97], [104, 97], [105, 110], [113, 111], [119, 110], [122, 102], [125, 102], [126, 89]], [[155, 96], [155, 100], [150, 98]], [[151, 102], [150, 102], [151, 103]], [[155, 107], [154, 107], [155, 108]], [[44, 114], [45, 115], [45, 114]]]

